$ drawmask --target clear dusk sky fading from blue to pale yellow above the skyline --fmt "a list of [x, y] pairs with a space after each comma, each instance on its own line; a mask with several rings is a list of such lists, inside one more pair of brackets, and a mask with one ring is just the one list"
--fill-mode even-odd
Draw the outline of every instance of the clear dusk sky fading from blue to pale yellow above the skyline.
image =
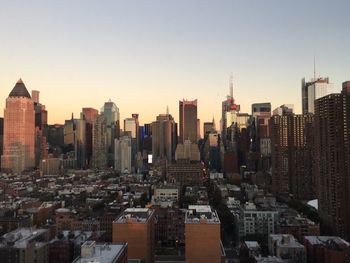
[[[350, 79], [350, 1], [59, 0], [0, 4], [0, 108], [18, 78], [39, 90], [49, 123], [111, 99], [121, 118], [199, 101], [201, 126], [219, 123], [234, 76], [252, 103], [301, 108], [301, 78]], [[3, 112], [0, 114], [3, 116]]]

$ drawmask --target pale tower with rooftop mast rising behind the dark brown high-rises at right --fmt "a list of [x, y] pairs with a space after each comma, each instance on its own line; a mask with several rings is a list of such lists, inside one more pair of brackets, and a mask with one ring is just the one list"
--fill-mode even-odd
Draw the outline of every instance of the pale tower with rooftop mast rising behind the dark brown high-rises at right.
[[301, 80], [302, 113], [315, 113], [315, 100], [326, 96], [333, 91], [333, 84], [329, 83], [329, 78], [314, 78], [309, 82], [305, 78]]

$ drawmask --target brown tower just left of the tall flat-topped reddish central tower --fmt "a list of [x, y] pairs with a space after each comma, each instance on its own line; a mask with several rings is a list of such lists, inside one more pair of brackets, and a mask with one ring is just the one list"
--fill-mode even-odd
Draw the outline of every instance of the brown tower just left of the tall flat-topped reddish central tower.
[[152, 156], [153, 160], [175, 159], [177, 132], [174, 118], [170, 114], [160, 114], [152, 122]]

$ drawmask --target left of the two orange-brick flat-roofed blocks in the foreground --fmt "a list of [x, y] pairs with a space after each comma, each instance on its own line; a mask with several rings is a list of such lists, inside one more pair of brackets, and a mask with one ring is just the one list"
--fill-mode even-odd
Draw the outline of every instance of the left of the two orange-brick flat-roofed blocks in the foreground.
[[154, 210], [127, 208], [113, 222], [113, 243], [128, 244], [128, 259], [154, 262]]

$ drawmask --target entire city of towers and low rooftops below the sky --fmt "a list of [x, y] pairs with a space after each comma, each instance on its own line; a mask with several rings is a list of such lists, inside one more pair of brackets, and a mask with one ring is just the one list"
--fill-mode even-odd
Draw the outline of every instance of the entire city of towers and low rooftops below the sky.
[[242, 112], [229, 88], [201, 134], [197, 99], [178, 123], [109, 100], [49, 124], [20, 79], [0, 118], [0, 261], [348, 262], [350, 81], [303, 78], [302, 114]]

